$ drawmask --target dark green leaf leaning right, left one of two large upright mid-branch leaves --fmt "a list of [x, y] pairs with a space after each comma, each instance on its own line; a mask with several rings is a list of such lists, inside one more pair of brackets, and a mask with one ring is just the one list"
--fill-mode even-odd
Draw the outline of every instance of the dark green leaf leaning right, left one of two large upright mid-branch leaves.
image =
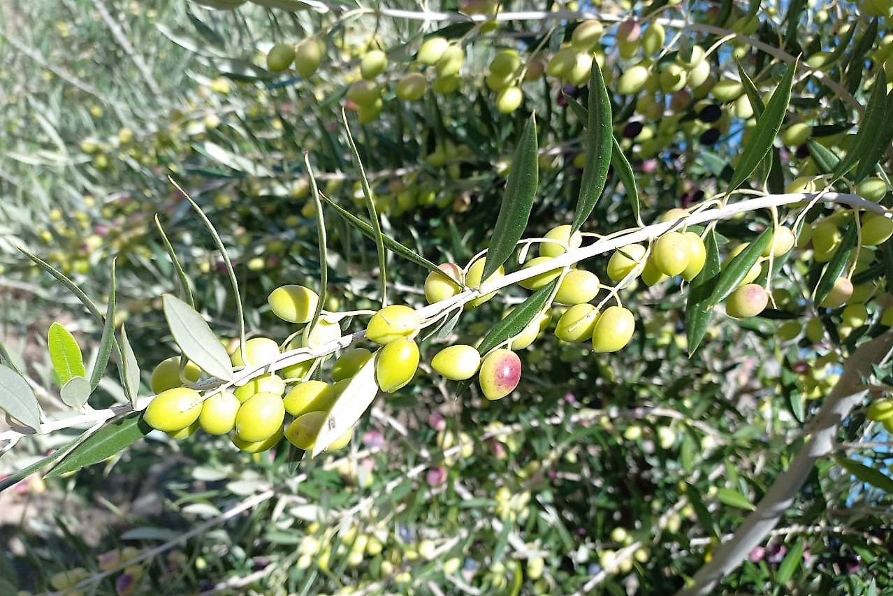
[[514, 150], [502, 206], [499, 207], [497, 223], [490, 237], [487, 262], [480, 279], [488, 280], [490, 275], [505, 264], [527, 228], [539, 183], [538, 167], [537, 123], [531, 115]]

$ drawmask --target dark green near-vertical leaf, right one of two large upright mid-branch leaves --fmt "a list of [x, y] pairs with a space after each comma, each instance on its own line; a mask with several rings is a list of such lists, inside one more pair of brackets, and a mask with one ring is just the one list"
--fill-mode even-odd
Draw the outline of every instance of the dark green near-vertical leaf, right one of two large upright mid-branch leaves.
[[[602, 79], [602, 70], [593, 63], [589, 74], [589, 106], [586, 121], [586, 162], [580, 180], [580, 197], [573, 213], [572, 230], [580, 230], [605, 189], [614, 139], [611, 98]], [[496, 270], [494, 270], [496, 271]], [[484, 278], [486, 279], [486, 278]]]

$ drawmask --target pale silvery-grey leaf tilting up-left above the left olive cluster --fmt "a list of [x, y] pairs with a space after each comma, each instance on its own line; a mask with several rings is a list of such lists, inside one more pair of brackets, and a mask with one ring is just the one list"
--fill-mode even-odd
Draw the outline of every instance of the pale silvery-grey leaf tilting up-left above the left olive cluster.
[[171, 294], [164, 294], [162, 303], [168, 327], [183, 354], [205, 373], [232, 381], [230, 355], [202, 315]]

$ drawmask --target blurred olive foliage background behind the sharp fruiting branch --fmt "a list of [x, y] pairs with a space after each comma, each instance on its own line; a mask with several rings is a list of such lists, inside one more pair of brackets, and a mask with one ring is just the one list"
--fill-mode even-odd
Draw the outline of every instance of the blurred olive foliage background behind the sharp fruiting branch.
[[[477, 6], [441, 4], [457, 16]], [[395, 18], [374, 5], [322, 6], [292, 13], [252, 3], [218, 11], [185, 0], [0, 4], [0, 339], [46, 388], [40, 397], [48, 416], [71, 415], [46, 356], [49, 324], [65, 323], [88, 354], [102, 330], [17, 247], [66, 273], [98, 304], [108, 299], [117, 258], [119, 322], [127, 324], [143, 370], [141, 394], [149, 394], [152, 367], [175, 353], [159, 298], [176, 290], [174, 271], [156, 216], [193, 282], [196, 306], [221, 337], [237, 335], [221, 254], [169, 177], [225, 242], [250, 332], [283, 340], [293, 331], [266, 305], [284, 283], [316, 288], [331, 310], [376, 307], [374, 243], [330, 208], [329, 285], [318, 288], [305, 169], [306, 152], [323, 193], [364, 213], [341, 111], [352, 107], [346, 94], [371, 48], [389, 60], [378, 78], [380, 114], [360, 122], [348, 109], [347, 119], [385, 233], [435, 263], [464, 264], [486, 248], [515, 141], [534, 112], [540, 183], [527, 236], [571, 221], [584, 131], [567, 97], [586, 105], [588, 89], [556, 77], [530, 80], [522, 105], [500, 113], [485, 78], [503, 48], [516, 49], [525, 63], [546, 64], [576, 20], [482, 26]], [[401, 1], [388, 7], [420, 10]], [[642, 59], [618, 53], [616, 22], [635, 16], [644, 26], [670, 18], [730, 28], [741, 18], [749, 22], [749, 10], [756, 38], [828, 64], [838, 88], [797, 80], [785, 128], [807, 122], [812, 138], [831, 147], [851, 142], [859, 118], [838, 89], [864, 105], [866, 73], [886, 68], [883, 53], [891, 47], [887, 20], [872, 20], [864, 6], [856, 11], [823, 0], [749, 7], [513, 2], [501, 10], [579, 9], [605, 17], [597, 53], [645, 222], [711, 197], [718, 180], [728, 179], [754, 118], [740, 93], [719, 97], [708, 88], [697, 97], [689, 89], [688, 101], [660, 88], [616, 93], [622, 72]], [[465, 44], [457, 88], [429, 89], [416, 102], [394, 97], [396, 81], [409, 71], [433, 78], [413, 56], [434, 35]], [[271, 46], [308, 37], [325, 48], [312, 77], [266, 70]], [[667, 27], [654, 59], [672, 62], [680, 48], [707, 48], [721, 37]], [[784, 70], [774, 57], [726, 39], [706, 60], [715, 80], [729, 80], [739, 61], [768, 93]], [[776, 145], [780, 169], [770, 189], [815, 174], [805, 140]], [[807, 219], [838, 211], [820, 206]], [[720, 222], [717, 231], [723, 240], [753, 239], [771, 221], [752, 213]], [[612, 172], [583, 231], [607, 234], [636, 224]], [[859, 281], [880, 313], [889, 261], [882, 248], [870, 252], [863, 270], [869, 273]], [[872, 315], [849, 344], [842, 340], [839, 311], [803, 298], [815, 275], [804, 254], [780, 266], [773, 281], [783, 292], [778, 308], [745, 322], [715, 317], [705, 346], [690, 358], [679, 282], [640, 284], [623, 296], [638, 320], [623, 351], [590, 354], [545, 333], [522, 350], [519, 390], [493, 403], [473, 391], [456, 399], [452, 384], [423, 366], [404, 390], [380, 396], [345, 452], [297, 461], [284, 441], [252, 456], [226, 438], [173, 441], [153, 433], [75, 474], [30, 475], [0, 494], [0, 592], [63, 590], [89, 576], [96, 582], [80, 593], [674, 592], [783, 473], [841, 358], [860, 335], [879, 329]], [[395, 295], [423, 305], [427, 272], [388, 259]], [[580, 264], [603, 277], [605, 265]], [[445, 342], [477, 340], [524, 295], [512, 288], [466, 313], [446, 338], [422, 344], [422, 361]], [[810, 319], [821, 324], [818, 338], [777, 333], [783, 323]], [[353, 325], [362, 329], [362, 321]], [[121, 400], [109, 377], [90, 405]], [[887, 466], [888, 436], [879, 425], [866, 431], [864, 412], [847, 419], [842, 432], [847, 455]], [[0, 474], [21, 470], [73, 436], [21, 441], [0, 457]], [[722, 593], [889, 593], [888, 499], [822, 461], [784, 525], [727, 578]], [[137, 556], [124, 568], [123, 559]]]

